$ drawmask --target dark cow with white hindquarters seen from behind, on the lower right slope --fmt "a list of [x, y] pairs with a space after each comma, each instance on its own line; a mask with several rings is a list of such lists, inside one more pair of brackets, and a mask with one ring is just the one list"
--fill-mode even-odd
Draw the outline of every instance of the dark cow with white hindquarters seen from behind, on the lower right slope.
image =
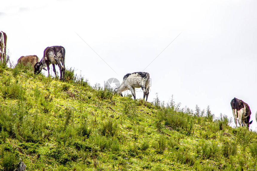
[[[232, 113], [235, 118], [235, 126], [237, 127], [237, 121], [239, 126], [241, 124], [249, 129], [249, 125], [253, 122], [250, 121], [251, 110], [247, 103], [237, 98], [233, 98], [230, 102]], [[249, 122], [250, 121], [250, 122]]]

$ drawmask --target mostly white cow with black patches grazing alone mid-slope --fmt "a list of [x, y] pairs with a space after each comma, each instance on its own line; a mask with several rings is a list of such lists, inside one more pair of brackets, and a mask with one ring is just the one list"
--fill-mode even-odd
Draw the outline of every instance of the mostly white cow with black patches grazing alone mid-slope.
[[146, 97], [146, 101], [149, 95], [149, 84], [150, 76], [149, 73], [137, 72], [132, 74], [126, 74], [123, 77], [123, 81], [120, 87], [114, 89], [114, 92], [122, 96], [122, 92], [125, 90], [130, 90], [134, 99], [136, 99], [135, 88], [142, 88], [144, 92], [143, 99]]

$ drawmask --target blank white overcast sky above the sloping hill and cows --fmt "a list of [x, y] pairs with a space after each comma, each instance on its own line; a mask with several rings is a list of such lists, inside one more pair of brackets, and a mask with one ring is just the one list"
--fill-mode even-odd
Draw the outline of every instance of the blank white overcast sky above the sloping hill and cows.
[[256, 130], [257, 1], [10, 0], [1, 2], [0, 20], [14, 63], [61, 45], [65, 66], [91, 85], [148, 72], [149, 101], [173, 95], [181, 107], [209, 105], [230, 118], [236, 97], [249, 104]]

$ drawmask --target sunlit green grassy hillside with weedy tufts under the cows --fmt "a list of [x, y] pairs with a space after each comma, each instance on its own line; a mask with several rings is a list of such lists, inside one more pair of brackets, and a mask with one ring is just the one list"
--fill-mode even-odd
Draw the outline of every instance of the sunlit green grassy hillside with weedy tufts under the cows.
[[254, 170], [257, 135], [230, 120], [0, 68], [0, 170]]

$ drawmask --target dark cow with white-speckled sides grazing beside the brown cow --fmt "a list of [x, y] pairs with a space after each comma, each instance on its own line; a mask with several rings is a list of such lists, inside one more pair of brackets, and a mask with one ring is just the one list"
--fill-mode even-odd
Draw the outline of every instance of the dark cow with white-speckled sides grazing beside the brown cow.
[[[61, 65], [62, 63], [62, 65]], [[60, 69], [60, 80], [64, 80], [65, 73], [65, 49], [62, 46], [51, 46], [44, 50], [44, 56], [40, 62], [37, 62], [34, 66], [34, 73], [39, 74], [44, 67], [48, 69], [48, 76], [50, 75], [49, 70], [50, 64], [53, 64], [53, 72], [56, 77], [55, 65], [57, 64]]]

